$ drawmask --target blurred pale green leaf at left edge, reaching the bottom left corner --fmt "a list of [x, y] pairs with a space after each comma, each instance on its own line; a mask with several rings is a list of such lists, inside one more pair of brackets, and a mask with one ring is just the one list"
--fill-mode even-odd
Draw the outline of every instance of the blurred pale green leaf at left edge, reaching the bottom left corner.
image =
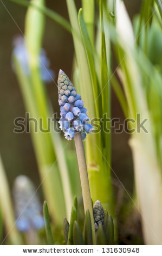
[[8, 185], [7, 176], [5, 175], [5, 170], [3, 167], [2, 159], [0, 156], [0, 176], [1, 176], [1, 185], [0, 185], [0, 206], [2, 210], [2, 216], [5, 225], [6, 236], [2, 243], [9, 237], [9, 240], [12, 245], [21, 245], [21, 236], [18, 233], [15, 227], [15, 217], [12, 208], [10, 188]]

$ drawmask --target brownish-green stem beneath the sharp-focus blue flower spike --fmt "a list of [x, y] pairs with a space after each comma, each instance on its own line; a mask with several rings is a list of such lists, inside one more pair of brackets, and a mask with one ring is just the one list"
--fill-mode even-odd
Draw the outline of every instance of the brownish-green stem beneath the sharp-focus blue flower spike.
[[90, 213], [90, 219], [91, 219], [91, 223], [92, 223], [93, 244], [95, 245], [96, 242], [95, 242], [95, 229], [94, 229], [92, 199], [90, 196], [85, 150], [83, 148], [83, 142], [82, 142], [82, 137], [81, 137], [80, 132], [75, 133], [74, 141], [75, 141], [75, 148], [76, 148], [76, 154], [77, 154], [77, 161], [78, 161], [78, 165], [79, 165], [84, 209], [85, 209], [85, 213], [87, 210], [89, 210], [89, 213]]

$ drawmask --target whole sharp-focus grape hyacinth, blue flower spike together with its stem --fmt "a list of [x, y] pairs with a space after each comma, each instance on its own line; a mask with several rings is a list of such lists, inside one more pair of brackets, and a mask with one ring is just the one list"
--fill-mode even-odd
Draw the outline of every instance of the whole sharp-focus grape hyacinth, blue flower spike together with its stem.
[[[79, 165], [80, 181], [82, 187], [83, 204], [85, 214], [87, 210], [90, 215], [92, 225], [92, 239], [95, 245], [95, 227], [92, 208], [92, 199], [90, 196], [88, 172], [85, 151], [83, 147], [83, 139], [86, 133], [93, 131], [93, 126], [89, 124], [87, 109], [83, 106], [81, 95], [76, 93], [76, 89], [68, 76], [60, 70], [58, 77], [59, 105], [61, 118], [59, 120], [60, 129], [64, 132], [64, 136], [68, 141], [74, 138], [77, 162]], [[68, 124], [67, 124], [68, 123]]]

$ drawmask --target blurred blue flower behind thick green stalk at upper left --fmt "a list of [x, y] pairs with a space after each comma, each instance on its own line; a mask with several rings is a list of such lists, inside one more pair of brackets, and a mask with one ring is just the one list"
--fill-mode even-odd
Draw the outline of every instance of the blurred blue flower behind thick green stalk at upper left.
[[[28, 66], [28, 60], [29, 60], [29, 53], [27, 51], [27, 48], [25, 48], [24, 44], [24, 38], [21, 35], [18, 35], [15, 37], [14, 42], [14, 50], [12, 52], [12, 58], [16, 56], [18, 62], [20, 62], [22, 70], [25, 75], [30, 75], [30, 70]], [[44, 49], [41, 50], [40, 56], [38, 56], [39, 59], [39, 68], [41, 73], [41, 78], [44, 82], [48, 83], [53, 81], [54, 79], [54, 71], [49, 69], [49, 59], [46, 56], [46, 52]], [[14, 68], [14, 62], [11, 61], [12, 69]]]

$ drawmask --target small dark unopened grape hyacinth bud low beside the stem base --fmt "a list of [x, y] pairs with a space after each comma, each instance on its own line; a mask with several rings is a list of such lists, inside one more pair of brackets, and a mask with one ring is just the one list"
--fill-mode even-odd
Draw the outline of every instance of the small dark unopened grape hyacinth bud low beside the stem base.
[[95, 230], [98, 229], [99, 224], [104, 224], [104, 210], [99, 200], [97, 200], [93, 205], [93, 216], [94, 216], [94, 227]]

